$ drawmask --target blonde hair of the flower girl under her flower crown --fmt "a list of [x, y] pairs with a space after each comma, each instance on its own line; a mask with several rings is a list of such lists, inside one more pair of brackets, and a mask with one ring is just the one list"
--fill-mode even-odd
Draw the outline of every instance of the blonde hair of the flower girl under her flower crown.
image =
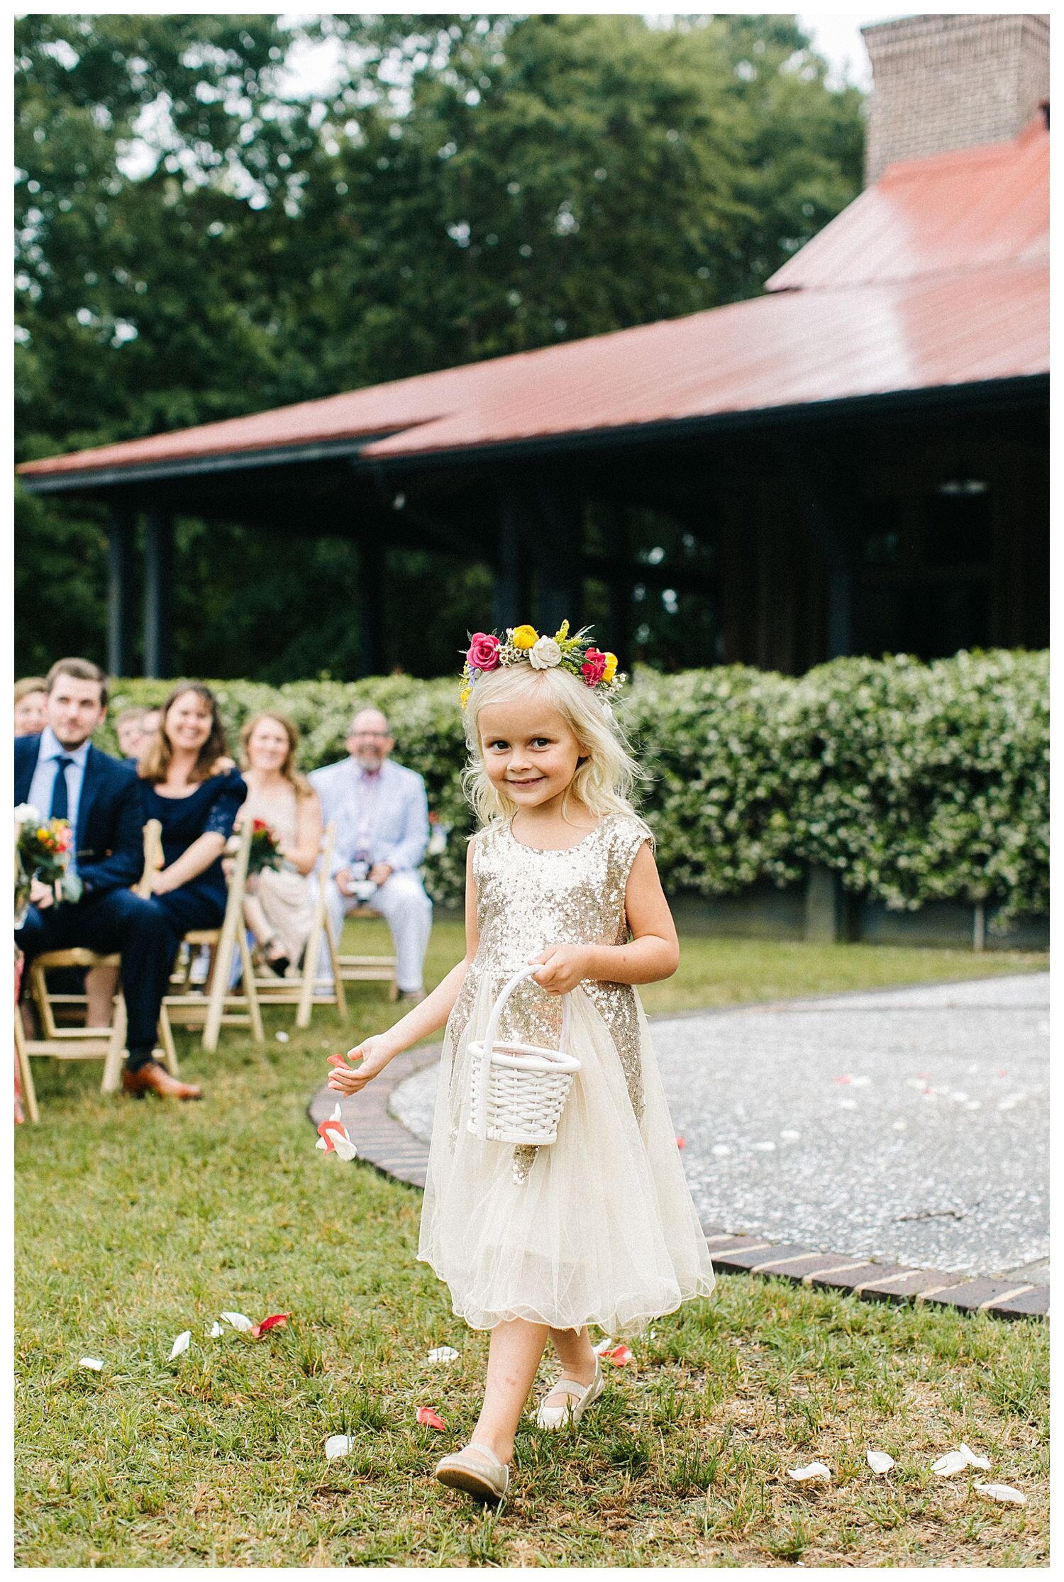
[[536, 671], [531, 664], [509, 664], [477, 679], [465, 710], [470, 763], [462, 783], [481, 824], [489, 824], [493, 818], [509, 819], [517, 812], [517, 804], [492, 785], [484, 767], [481, 709], [487, 704], [514, 702], [517, 698], [538, 698], [557, 709], [580, 744], [580, 763], [561, 802], [563, 818], [569, 793], [598, 818], [606, 818], [607, 813], [639, 818], [629, 797], [636, 783], [647, 778], [645, 770], [632, 758], [620, 725], [591, 688], [558, 666]]

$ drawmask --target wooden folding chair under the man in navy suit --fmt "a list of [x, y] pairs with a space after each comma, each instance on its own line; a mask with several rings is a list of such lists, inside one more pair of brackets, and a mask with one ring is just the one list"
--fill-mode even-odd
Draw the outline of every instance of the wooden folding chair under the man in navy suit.
[[[161, 826], [155, 818], [149, 819], [144, 826], [144, 870], [138, 883], [133, 886], [138, 895], [150, 895], [152, 873], [161, 865], [160, 829]], [[60, 967], [89, 968], [120, 965], [120, 956], [100, 956], [96, 951], [87, 951], [82, 946], [73, 946], [68, 951], [44, 951], [30, 963], [30, 992], [41, 1019], [41, 1031], [44, 1036], [25, 1036], [22, 1017], [16, 1006], [14, 1047], [19, 1055], [22, 1087], [25, 1090], [27, 1111], [32, 1120], [38, 1118], [35, 1114], [36, 1093], [33, 1088], [33, 1076], [30, 1073], [32, 1055], [51, 1055], [55, 1060], [103, 1060], [103, 1081], [100, 1084], [100, 1092], [114, 1093], [122, 1079], [122, 1055], [125, 1050], [126, 1014], [122, 992], [114, 997], [109, 1027], [60, 1025], [55, 1020], [57, 1009], [63, 1012], [79, 1006], [87, 1008], [89, 998], [84, 993], [51, 993], [47, 987], [47, 973], [55, 971]], [[166, 1050], [166, 1047], [160, 1052], [163, 1054], [171, 1076], [177, 1076], [175, 1052], [172, 1049]]]

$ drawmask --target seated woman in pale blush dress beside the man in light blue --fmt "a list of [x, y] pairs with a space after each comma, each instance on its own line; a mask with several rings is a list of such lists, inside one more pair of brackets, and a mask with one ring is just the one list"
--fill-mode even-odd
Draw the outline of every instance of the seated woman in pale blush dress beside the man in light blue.
[[313, 921], [310, 872], [321, 850], [321, 804], [296, 769], [299, 731], [264, 710], [240, 731], [248, 797], [240, 819], [259, 818], [280, 842], [281, 867], [248, 880], [243, 916], [267, 965], [283, 976], [299, 962]]

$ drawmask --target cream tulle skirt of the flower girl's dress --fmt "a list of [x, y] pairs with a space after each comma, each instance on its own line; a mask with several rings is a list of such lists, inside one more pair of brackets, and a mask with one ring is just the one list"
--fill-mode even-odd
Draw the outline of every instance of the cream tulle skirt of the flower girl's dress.
[[582, 1062], [557, 1142], [517, 1150], [466, 1130], [470, 1041], [492, 1009], [489, 975], [440, 1069], [417, 1256], [473, 1329], [525, 1318], [555, 1329], [634, 1334], [713, 1289], [713, 1266], [683, 1174], [647, 1020], [639, 1012], [637, 1120], [610, 1031], [582, 989], [569, 1052]]

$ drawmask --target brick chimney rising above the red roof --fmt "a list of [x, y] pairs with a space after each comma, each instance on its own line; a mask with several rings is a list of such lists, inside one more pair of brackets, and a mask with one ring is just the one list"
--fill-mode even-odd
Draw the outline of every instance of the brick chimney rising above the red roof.
[[1048, 16], [906, 16], [862, 33], [870, 184], [895, 160], [1006, 142], [1050, 97]]

